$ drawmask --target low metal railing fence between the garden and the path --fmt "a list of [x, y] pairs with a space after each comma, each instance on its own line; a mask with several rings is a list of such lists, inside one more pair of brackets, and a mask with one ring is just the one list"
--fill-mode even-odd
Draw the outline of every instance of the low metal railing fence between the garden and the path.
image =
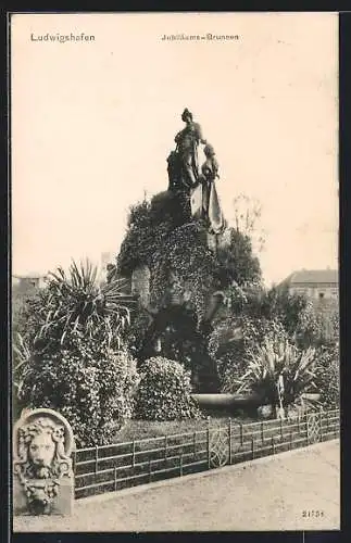
[[75, 496], [86, 497], [215, 469], [339, 437], [339, 409], [296, 419], [211, 426], [189, 433], [135, 440], [74, 454]]

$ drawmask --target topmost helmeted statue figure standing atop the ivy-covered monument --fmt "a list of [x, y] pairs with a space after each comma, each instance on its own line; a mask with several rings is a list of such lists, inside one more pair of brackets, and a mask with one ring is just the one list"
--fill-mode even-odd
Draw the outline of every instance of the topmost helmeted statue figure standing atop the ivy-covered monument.
[[180, 161], [181, 181], [185, 187], [190, 189], [199, 180], [199, 143], [206, 143], [202, 137], [201, 126], [192, 121], [192, 113], [185, 109], [181, 114], [181, 121], [186, 126], [176, 137], [176, 152]]

